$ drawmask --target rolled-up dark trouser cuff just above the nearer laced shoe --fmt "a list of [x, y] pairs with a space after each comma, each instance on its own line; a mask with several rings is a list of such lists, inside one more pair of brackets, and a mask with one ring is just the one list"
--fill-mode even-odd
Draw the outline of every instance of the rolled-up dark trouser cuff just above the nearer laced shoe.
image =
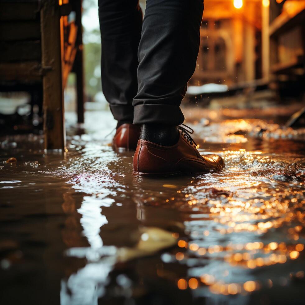
[[160, 123], [178, 126], [184, 122], [179, 106], [146, 104], [134, 106], [134, 124]]

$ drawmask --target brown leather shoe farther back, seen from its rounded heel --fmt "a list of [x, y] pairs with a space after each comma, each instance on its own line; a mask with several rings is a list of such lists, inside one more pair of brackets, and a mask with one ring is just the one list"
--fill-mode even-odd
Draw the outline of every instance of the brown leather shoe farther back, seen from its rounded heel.
[[115, 133], [112, 147], [115, 150], [135, 150], [140, 136], [140, 125], [122, 124]]

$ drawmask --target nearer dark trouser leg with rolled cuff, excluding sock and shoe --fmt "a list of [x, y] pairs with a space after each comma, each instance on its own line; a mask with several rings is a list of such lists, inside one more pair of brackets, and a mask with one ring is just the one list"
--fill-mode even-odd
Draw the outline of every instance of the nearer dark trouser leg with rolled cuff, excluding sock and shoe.
[[147, 0], [134, 124], [162, 129], [184, 121], [179, 106], [195, 71], [203, 7], [203, 0]]

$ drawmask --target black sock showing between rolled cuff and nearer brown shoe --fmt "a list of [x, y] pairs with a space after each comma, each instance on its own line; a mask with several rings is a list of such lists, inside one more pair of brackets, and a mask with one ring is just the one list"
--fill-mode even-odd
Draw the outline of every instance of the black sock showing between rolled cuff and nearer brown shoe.
[[147, 140], [163, 146], [175, 145], [179, 139], [176, 126], [162, 124], [143, 124], [140, 139]]

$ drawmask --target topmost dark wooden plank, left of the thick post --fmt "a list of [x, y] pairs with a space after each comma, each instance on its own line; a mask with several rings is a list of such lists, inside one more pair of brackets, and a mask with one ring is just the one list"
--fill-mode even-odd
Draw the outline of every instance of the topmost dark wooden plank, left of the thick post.
[[0, 20], [39, 20], [39, 3], [35, 2], [0, 2]]

